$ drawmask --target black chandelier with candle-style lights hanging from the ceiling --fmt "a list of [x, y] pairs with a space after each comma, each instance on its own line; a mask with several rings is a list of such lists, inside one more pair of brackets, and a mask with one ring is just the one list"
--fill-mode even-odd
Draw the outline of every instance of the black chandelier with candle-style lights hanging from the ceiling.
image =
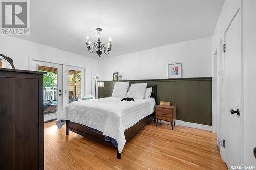
[[109, 43], [108, 43], [108, 49], [106, 48], [106, 45], [103, 44], [102, 42], [100, 42], [100, 31], [102, 31], [101, 28], [97, 28], [96, 29], [99, 33], [98, 33], [98, 42], [97, 43], [93, 43], [92, 47], [91, 47], [91, 42], [89, 40], [89, 37], [86, 37], [86, 45], [87, 45], [87, 49], [89, 53], [92, 53], [94, 50], [96, 50], [96, 53], [99, 55], [102, 54], [102, 52], [104, 51], [104, 53], [106, 55], [108, 55], [110, 53], [111, 50], [111, 38], [109, 38]]

